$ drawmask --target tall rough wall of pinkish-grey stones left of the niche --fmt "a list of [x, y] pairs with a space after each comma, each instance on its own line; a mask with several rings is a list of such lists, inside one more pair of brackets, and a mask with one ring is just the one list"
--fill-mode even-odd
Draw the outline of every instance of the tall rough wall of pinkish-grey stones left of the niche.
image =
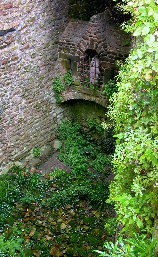
[[[1, 1], [0, 171], [33, 147], [51, 145], [56, 137], [52, 79], [68, 4], [67, 0]], [[61, 118], [63, 109], [57, 113]]]

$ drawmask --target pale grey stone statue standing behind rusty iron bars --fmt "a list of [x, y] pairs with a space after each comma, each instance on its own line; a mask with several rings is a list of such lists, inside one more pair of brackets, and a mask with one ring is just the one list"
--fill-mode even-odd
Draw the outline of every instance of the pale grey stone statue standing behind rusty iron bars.
[[99, 78], [99, 54], [96, 53], [95, 56], [92, 58], [90, 70], [89, 70], [89, 81], [91, 83], [95, 83], [98, 81]]

